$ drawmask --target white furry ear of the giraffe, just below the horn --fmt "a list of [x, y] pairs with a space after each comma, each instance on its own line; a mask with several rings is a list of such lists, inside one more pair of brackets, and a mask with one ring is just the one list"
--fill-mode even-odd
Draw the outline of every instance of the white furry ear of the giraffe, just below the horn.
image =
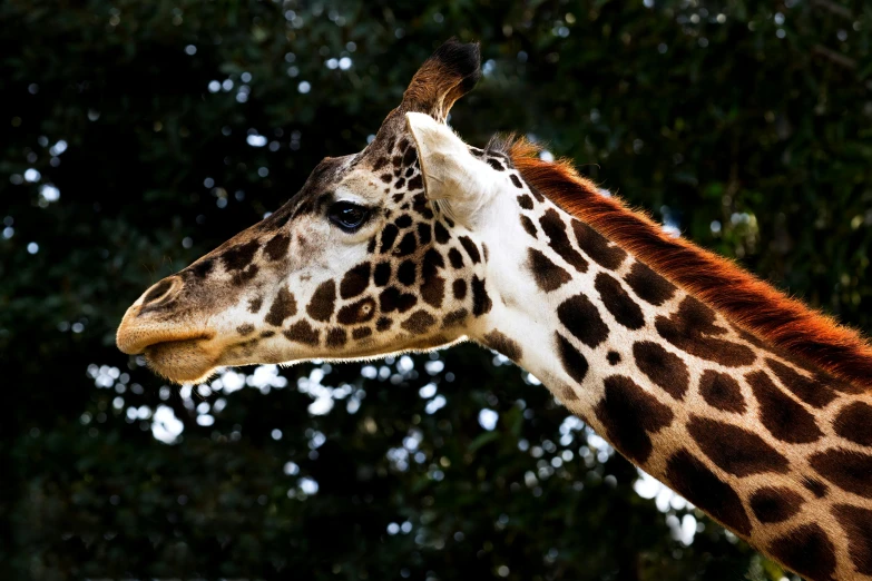
[[405, 122], [418, 147], [429, 199], [447, 199], [457, 206], [488, 191], [482, 163], [447, 125], [420, 112], [405, 114]]

